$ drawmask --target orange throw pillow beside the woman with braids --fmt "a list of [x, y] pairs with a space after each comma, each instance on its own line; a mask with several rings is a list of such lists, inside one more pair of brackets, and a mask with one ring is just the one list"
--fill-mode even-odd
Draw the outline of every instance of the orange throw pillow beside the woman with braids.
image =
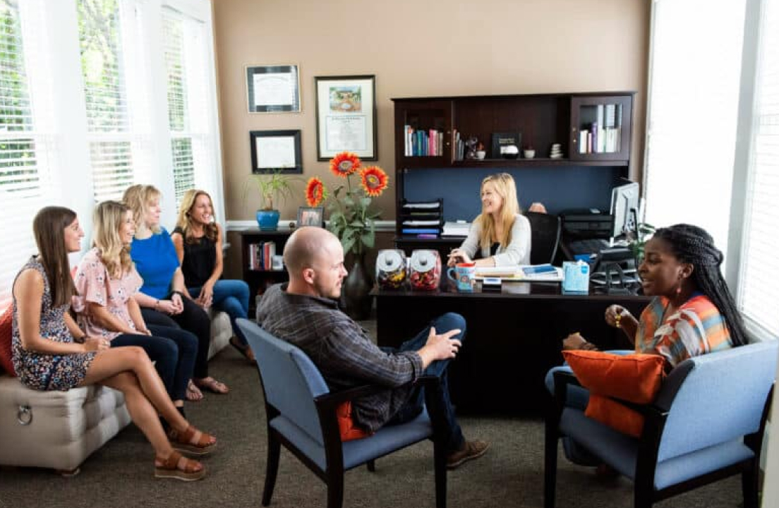
[[663, 383], [664, 358], [603, 351], [562, 351], [562, 355], [576, 379], [590, 390], [590, 402], [584, 414], [629, 436], [640, 436], [643, 416], [608, 397], [634, 404], [654, 401]]

